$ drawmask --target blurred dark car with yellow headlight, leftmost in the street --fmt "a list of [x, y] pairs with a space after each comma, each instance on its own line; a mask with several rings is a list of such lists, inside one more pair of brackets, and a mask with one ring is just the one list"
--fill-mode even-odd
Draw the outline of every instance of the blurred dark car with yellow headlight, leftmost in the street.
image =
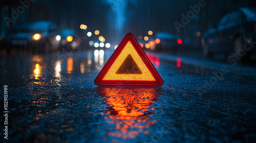
[[8, 28], [5, 34], [7, 53], [13, 47], [34, 52], [57, 50], [60, 42], [56, 40], [57, 27], [50, 21], [25, 22]]

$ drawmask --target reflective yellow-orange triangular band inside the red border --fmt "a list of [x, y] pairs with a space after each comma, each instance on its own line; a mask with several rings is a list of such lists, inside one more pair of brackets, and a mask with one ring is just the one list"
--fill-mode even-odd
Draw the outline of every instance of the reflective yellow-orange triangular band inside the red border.
[[[129, 55], [132, 56], [142, 74], [116, 74], [117, 70]], [[113, 65], [110, 67], [108, 73], [106, 73], [104, 76], [103, 80], [156, 81], [150, 70], [148, 70], [145, 63], [142, 61], [139, 54], [133, 47], [131, 41], [127, 42], [120, 55], [116, 58]]]

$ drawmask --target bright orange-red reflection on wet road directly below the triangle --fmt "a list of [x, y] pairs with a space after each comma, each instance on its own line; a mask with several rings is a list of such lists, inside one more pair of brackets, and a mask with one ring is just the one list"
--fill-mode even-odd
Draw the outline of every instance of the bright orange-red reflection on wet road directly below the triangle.
[[[105, 120], [115, 125], [106, 134], [116, 138], [135, 138], [139, 134], [149, 134], [147, 128], [156, 122], [151, 118], [157, 88], [111, 88], [99, 87], [103, 99], [110, 106]], [[111, 138], [112, 138], [111, 137]]]

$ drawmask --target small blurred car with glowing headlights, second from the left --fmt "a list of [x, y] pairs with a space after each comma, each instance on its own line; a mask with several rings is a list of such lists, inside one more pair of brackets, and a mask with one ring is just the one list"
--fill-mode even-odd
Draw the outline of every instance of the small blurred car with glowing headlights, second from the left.
[[58, 37], [58, 39], [61, 39], [61, 45], [66, 50], [73, 51], [77, 50], [80, 47], [81, 41], [79, 38], [76, 38], [74, 30], [61, 29], [60, 35], [61, 36]]

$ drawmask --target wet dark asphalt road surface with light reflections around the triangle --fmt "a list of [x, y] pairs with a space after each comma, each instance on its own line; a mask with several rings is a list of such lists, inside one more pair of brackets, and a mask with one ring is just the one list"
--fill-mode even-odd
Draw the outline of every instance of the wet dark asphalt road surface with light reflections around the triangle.
[[[96, 86], [93, 81], [112, 53], [2, 55], [1, 94], [8, 85], [9, 113], [8, 139], [0, 118], [1, 140], [255, 141], [254, 66], [147, 53], [163, 86]], [[2, 96], [2, 113], [3, 101]]]

